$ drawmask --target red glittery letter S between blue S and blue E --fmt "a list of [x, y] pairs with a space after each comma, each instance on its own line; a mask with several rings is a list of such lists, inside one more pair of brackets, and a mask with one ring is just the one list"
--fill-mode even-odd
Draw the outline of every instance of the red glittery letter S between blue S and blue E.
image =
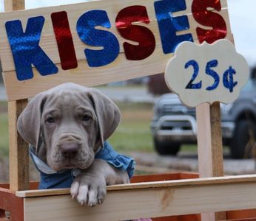
[[141, 21], [149, 24], [146, 7], [135, 5], [121, 10], [115, 18], [115, 25], [120, 35], [128, 40], [138, 42], [138, 45], [124, 43], [124, 52], [128, 60], [143, 60], [155, 50], [155, 37], [146, 27], [132, 25]]

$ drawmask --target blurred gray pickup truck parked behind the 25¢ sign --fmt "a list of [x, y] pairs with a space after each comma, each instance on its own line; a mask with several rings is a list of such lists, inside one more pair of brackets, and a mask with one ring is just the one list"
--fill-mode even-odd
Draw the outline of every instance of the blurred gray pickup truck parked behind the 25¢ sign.
[[[235, 102], [220, 104], [223, 144], [232, 158], [255, 157], [256, 80], [246, 83]], [[176, 94], [164, 94], [155, 102], [151, 123], [155, 150], [176, 155], [181, 144], [196, 144], [195, 108], [183, 105]]]

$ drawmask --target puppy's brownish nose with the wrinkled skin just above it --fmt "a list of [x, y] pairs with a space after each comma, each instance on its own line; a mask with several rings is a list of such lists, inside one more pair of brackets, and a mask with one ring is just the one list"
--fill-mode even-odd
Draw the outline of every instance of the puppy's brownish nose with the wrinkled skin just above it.
[[81, 147], [81, 141], [74, 136], [62, 136], [58, 142], [61, 155], [66, 159], [75, 158]]

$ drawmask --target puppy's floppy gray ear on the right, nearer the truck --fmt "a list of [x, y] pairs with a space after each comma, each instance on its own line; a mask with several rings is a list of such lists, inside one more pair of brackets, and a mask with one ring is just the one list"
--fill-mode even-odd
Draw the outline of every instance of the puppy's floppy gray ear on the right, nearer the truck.
[[104, 141], [106, 141], [115, 131], [116, 127], [118, 127], [121, 113], [117, 105], [100, 91], [91, 89], [88, 92], [88, 96], [92, 101], [98, 119], [100, 144], [101, 147], [103, 147]]

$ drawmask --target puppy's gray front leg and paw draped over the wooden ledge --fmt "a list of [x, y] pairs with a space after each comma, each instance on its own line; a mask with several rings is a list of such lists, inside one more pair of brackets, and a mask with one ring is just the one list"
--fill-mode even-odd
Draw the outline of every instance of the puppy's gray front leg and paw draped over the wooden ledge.
[[129, 183], [126, 171], [116, 169], [104, 160], [95, 159], [90, 167], [75, 178], [70, 193], [81, 205], [95, 206], [103, 203], [107, 185], [121, 183]]

